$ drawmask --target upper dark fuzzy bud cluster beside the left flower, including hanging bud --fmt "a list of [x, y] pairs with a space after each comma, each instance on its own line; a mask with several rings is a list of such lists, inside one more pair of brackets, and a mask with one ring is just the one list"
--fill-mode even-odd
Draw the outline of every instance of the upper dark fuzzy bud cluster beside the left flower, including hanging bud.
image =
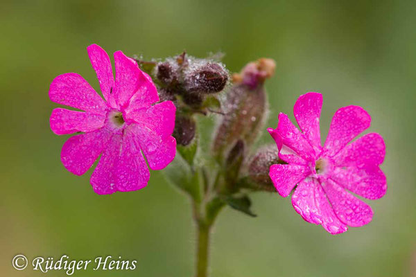
[[148, 73], [157, 84], [159, 98], [175, 103], [177, 114], [173, 136], [177, 144], [189, 145], [196, 132], [193, 115], [213, 111], [210, 107], [213, 101], [205, 100], [208, 97], [216, 98], [216, 94], [223, 91], [229, 80], [228, 71], [220, 62], [182, 53], [161, 62], [153, 62]]

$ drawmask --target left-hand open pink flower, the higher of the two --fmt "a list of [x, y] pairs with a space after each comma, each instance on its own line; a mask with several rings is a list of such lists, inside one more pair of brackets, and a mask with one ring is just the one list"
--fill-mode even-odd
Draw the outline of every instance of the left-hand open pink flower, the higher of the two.
[[49, 98], [83, 111], [57, 108], [51, 114], [55, 134], [72, 134], [64, 143], [61, 161], [75, 175], [83, 175], [101, 159], [90, 182], [98, 194], [144, 188], [152, 170], [165, 168], [175, 158], [173, 102], [160, 102], [151, 78], [123, 52], [114, 53], [116, 78], [107, 53], [93, 44], [87, 48], [103, 98], [80, 75], [66, 73], [53, 80]]

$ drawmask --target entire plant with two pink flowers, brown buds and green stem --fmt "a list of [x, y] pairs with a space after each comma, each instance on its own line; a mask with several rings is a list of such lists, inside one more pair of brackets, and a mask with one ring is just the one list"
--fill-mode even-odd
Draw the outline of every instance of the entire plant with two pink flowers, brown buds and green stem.
[[[306, 93], [294, 107], [300, 130], [279, 114], [277, 129], [268, 129], [277, 148], [256, 149], [265, 131], [265, 83], [275, 73], [274, 60], [261, 58], [230, 75], [219, 55], [183, 52], [145, 61], [116, 51], [114, 80], [107, 53], [95, 44], [87, 50], [104, 99], [76, 73], [59, 75], [49, 89], [53, 102], [77, 109], [54, 109], [53, 132], [82, 133], [64, 143], [62, 163], [83, 175], [101, 155], [90, 183], [96, 193], [110, 194], [144, 188], [148, 167], [162, 170], [172, 162], [164, 174], [189, 197], [196, 223], [196, 277], [208, 276], [211, 230], [220, 211], [229, 207], [255, 217], [249, 195], [254, 191], [277, 190], [287, 197], [294, 190], [297, 213], [332, 234], [372, 220], [370, 206], [352, 193], [367, 199], [385, 195], [379, 168], [385, 145], [374, 133], [351, 142], [370, 127], [361, 107], [338, 109], [322, 146], [322, 95]], [[214, 134], [211, 139], [199, 134], [207, 129], [201, 116], [217, 118], [206, 131]]]

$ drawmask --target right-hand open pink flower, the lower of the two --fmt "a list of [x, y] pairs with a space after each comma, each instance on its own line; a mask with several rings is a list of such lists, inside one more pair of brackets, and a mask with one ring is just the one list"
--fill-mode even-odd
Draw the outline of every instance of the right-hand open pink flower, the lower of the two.
[[[385, 195], [387, 184], [379, 165], [385, 145], [376, 133], [349, 143], [370, 127], [363, 108], [348, 106], [333, 115], [324, 146], [320, 143], [320, 93], [297, 99], [293, 114], [302, 132], [286, 114], [279, 114], [277, 129], [268, 129], [279, 148], [279, 158], [288, 164], [270, 167], [270, 178], [282, 197], [292, 195], [293, 208], [304, 220], [321, 224], [331, 234], [347, 226], [363, 226], [372, 220], [372, 209], [347, 190], [367, 199]], [[349, 144], [348, 144], [349, 143]]]

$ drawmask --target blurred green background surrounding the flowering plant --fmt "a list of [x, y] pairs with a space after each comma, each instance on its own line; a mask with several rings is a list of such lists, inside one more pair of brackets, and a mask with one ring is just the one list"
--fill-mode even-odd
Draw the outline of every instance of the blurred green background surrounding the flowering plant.
[[[134, 193], [96, 195], [92, 170], [60, 163], [49, 84], [77, 72], [98, 89], [86, 47], [166, 57], [184, 49], [226, 53], [230, 71], [258, 57], [277, 62], [266, 88], [277, 125], [300, 94], [324, 95], [322, 134], [336, 109], [361, 105], [383, 135], [388, 193], [369, 201], [373, 221], [342, 235], [307, 224], [290, 199], [253, 196], [257, 218], [228, 208], [213, 235], [211, 275], [416, 276], [415, 1], [2, 1], [0, 8], [1, 276], [17, 253], [137, 260], [135, 271], [73, 276], [192, 276], [195, 238], [187, 197], [152, 172]], [[271, 143], [263, 132], [262, 142]], [[64, 271], [49, 276], [65, 276]]]

